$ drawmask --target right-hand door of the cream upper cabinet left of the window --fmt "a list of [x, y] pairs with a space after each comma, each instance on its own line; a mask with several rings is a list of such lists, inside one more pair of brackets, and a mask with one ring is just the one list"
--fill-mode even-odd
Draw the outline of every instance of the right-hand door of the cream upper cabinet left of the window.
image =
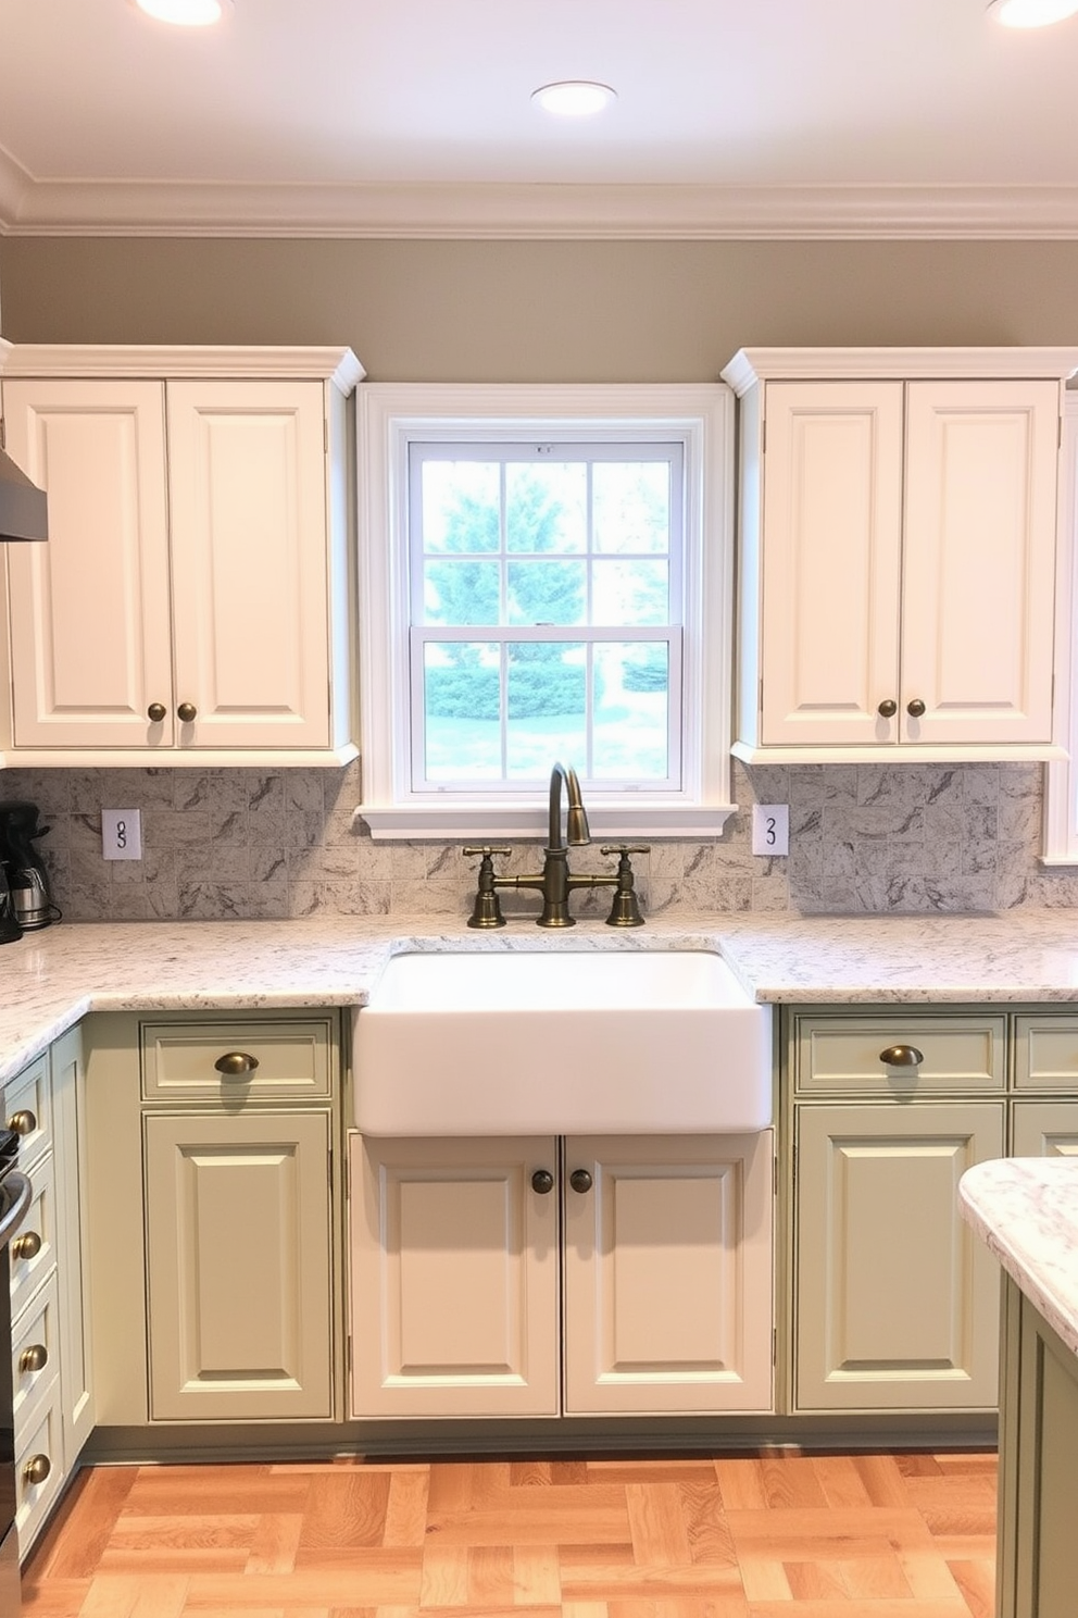
[[326, 746], [323, 385], [170, 382], [166, 401], [179, 746]]

